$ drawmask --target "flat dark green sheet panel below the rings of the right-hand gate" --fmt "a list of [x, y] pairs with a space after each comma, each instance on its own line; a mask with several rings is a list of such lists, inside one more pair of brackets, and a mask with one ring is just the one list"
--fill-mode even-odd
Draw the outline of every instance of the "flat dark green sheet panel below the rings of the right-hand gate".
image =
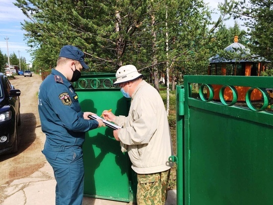
[[202, 109], [190, 116], [190, 204], [272, 204], [272, 127]]

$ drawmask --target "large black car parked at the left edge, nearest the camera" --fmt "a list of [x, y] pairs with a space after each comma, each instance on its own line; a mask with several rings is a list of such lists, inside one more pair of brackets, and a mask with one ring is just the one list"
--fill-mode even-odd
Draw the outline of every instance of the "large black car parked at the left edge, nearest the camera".
[[0, 154], [18, 151], [17, 128], [20, 118], [20, 90], [10, 84], [0, 73]]

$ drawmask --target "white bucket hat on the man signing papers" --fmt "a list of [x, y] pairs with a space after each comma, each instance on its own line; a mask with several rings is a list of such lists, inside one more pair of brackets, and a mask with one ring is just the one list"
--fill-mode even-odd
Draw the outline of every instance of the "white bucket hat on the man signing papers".
[[133, 81], [137, 79], [139, 76], [142, 76], [142, 74], [137, 72], [135, 66], [133, 65], [122, 66], [117, 70], [116, 73], [117, 81], [114, 83], [114, 85], [128, 81]]

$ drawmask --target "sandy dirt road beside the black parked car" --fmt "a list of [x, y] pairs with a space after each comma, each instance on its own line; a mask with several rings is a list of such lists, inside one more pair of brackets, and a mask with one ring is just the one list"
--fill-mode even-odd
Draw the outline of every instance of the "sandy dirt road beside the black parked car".
[[[45, 135], [41, 130], [37, 105], [41, 77], [37, 74], [32, 77], [16, 76], [10, 83], [21, 91], [21, 125], [18, 129], [21, 142], [16, 154], [0, 156], [0, 185], [8, 185], [16, 179], [29, 176], [46, 163], [41, 153]], [[3, 198], [1, 193], [0, 188], [0, 204]]]

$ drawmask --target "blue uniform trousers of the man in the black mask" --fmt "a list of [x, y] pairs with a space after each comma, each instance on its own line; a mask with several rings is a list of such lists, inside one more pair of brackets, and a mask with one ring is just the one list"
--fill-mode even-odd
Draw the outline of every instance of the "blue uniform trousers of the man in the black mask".
[[70, 148], [58, 152], [56, 158], [52, 157], [52, 151], [44, 149], [43, 153], [54, 170], [57, 182], [56, 205], [81, 205], [84, 176], [82, 149]]

